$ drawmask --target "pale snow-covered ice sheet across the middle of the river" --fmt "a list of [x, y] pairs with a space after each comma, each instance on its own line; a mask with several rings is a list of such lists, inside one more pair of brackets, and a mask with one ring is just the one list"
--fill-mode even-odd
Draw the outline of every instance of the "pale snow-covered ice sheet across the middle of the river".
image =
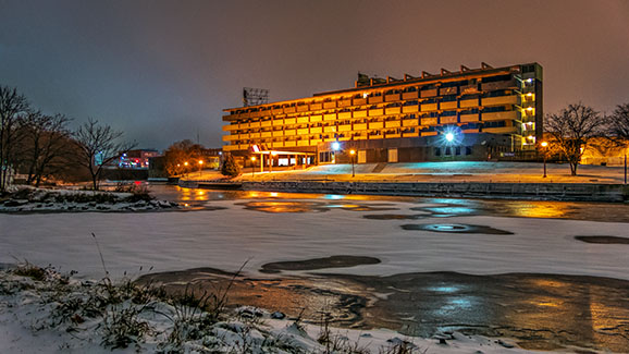
[[[259, 202], [259, 200], [258, 200]], [[285, 202], [285, 200], [284, 200]], [[282, 204], [282, 200], [271, 203]], [[270, 213], [242, 202], [210, 202], [224, 210], [145, 213], [0, 213], [0, 263], [27, 259], [100, 277], [98, 237], [110, 271], [214, 267], [246, 272], [263, 264], [331, 255], [371, 256], [379, 265], [336, 269], [355, 274], [452, 270], [488, 274], [541, 272], [629, 279], [624, 245], [588, 244], [575, 235], [629, 236], [626, 223], [491, 216], [368, 220], [366, 213], [420, 213], [410, 203], [386, 203], [396, 211]], [[370, 204], [370, 205], [373, 205]], [[601, 210], [604, 212], [604, 210]], [[513, 235], [403, 230], [403, 224], [488, 225]]]

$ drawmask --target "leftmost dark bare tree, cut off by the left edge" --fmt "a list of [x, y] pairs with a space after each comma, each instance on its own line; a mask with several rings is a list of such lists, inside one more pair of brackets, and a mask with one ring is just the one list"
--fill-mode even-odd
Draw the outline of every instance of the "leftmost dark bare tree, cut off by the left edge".
[[15, 88], [0, 86], [0, 192], [15, 168], [15, 145], [20, 141], [20, 125], [28, 110], [28, 101]]

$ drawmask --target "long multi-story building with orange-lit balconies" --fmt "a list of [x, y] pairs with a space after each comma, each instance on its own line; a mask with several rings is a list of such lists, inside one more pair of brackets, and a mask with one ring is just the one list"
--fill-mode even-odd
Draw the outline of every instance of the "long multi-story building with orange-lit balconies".
[[[480, 160], [534, 151], [543, 132], [542, 66], [460, 66], [421, 77], [230, 108], [224, 151], [291, 156], [288, 163]], [[354, 158], [354, 155], [351, 155]]]

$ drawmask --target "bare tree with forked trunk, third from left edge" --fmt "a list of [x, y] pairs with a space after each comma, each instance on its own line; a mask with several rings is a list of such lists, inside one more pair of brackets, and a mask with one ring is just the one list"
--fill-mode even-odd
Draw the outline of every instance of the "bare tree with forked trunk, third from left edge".
[[92, 119], [73, 134], [79, 147], [77, 162], [89, 170], [95, 191], [99, 187], [102, 168], [134, 147], [131, 143], [119, 143], [122, 135], [122, 132], [109, 125], [100, 125]]

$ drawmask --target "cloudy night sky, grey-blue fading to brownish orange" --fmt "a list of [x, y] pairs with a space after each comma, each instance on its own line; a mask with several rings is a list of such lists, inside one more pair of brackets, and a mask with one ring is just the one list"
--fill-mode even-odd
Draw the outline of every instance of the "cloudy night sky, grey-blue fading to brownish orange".
[[629, 102], [629, 1], [0, 0], [0, 85], [139, 147], [221, 146], [242, 88], [272, 101], [381, 77], [536, 61], [544, 106]]

